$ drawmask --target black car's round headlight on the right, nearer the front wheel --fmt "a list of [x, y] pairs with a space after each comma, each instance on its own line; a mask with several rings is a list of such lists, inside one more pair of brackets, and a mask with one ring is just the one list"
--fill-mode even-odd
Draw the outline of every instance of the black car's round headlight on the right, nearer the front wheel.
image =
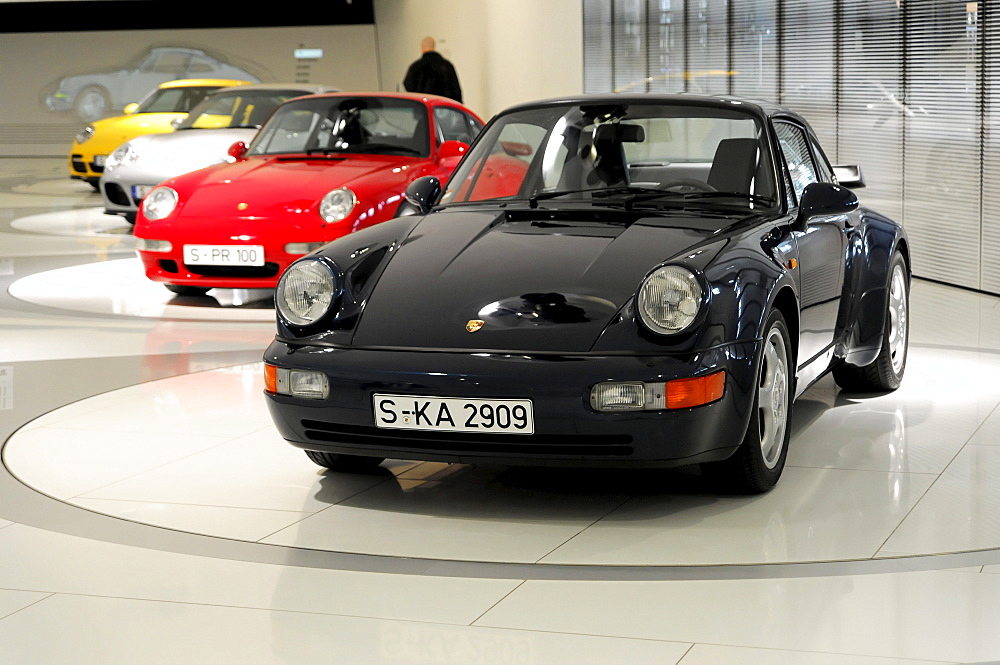
[[653, 332], [673, 335], [698, 316], [703, 292], [698, 278], [687, 268], [664, 266], [639, 287], [639, 316]]

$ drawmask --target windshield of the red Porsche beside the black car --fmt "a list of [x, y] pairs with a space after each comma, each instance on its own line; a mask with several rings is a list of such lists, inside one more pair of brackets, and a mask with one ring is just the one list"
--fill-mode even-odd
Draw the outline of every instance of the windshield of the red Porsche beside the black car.
[[393, 97], [318, 97], [286, 104], [250, 145], [251, 155], [430, 154], [426, 107]]

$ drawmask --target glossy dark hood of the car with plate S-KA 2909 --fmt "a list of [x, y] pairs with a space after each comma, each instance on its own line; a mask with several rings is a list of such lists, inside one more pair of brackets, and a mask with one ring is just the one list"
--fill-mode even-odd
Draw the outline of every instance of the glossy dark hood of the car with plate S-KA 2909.
[[[719, 240], [719, 229], [739, 219], [603, 216], [581, 211], [547, 218], [541, 210], [428, 215], [395, 250], [365, 303], [353, 344], [586, 352], [649, 271]], [[477, 320], [482, 327], [470, 333], [466, 326]]]

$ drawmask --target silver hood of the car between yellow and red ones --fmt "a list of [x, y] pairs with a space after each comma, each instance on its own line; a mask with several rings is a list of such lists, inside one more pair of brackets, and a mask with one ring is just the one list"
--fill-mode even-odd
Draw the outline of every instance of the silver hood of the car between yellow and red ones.
[[118, 177], [141, 173], [156, 176], [149, 182], [162, 182], [220, 164], [226, 161], [230, 146], [237, 141], [250, 141], [256, 133], [256, 129], [185, 129], [138, 137], [132, 146], [139, 158], [129, 166], [119, 167]]

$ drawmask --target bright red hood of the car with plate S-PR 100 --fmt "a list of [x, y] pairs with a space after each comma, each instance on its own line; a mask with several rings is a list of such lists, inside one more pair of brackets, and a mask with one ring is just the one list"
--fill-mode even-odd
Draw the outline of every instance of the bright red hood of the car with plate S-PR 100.
[[[392, 167], [400, 158], [352, 156], [350, 159], [296, 157], [250, 157], [206, 171], [190, 174], [178, 191], [184, 204], [185, 217], [211, 216], [219, 218], [238, 213], [241, 218], [255, 220], [287, 220], [290, 213], [312, 213], [319, 200], [331, 189], [355, 187], [358, 198], [363, 192], [357, 185], [366, 176], [378, 173], [386, 182], [399, 180], [400, 190], [406, 186], [405, 175], [392, 175]], [[315, 216], [315, 215], [310, 215]]]

